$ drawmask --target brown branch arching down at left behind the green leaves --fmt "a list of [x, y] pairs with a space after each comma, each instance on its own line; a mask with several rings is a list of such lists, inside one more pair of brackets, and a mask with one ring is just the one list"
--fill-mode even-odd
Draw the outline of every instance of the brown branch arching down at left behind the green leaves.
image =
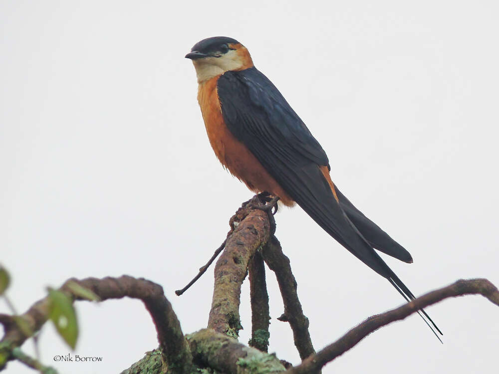
[[[189, 347], [180, 328], [180, 322], [160, 285], [143, 278], [136, 279], [127, 275], [120, 278], [68, 279], [60, 290], [71, 296], [73, 300], [84, 299], [71, 292], [70, 284], [72, 282], [91, 290], [102, 301], [121, 299], [125, 296], [142, 300], [156, 326], [158, 341], [163, 349], [163, 358], [166, 364], [169, 365], [170, 373], [181, 374], [190, 370], [192, 356]], [[20, 316], [33, 333], [38, 331], [47, 321], [49, 303], [48, 297], [45, 297], [33, 304], [27, 312]], [[15, 347], [20, 347], [29, 336], [23, 334], [15, 324], [6, 324], [5, 327], [5, 335], [0, 341], [0, 347], [8, 347], [11, 355], [12, 350]]]

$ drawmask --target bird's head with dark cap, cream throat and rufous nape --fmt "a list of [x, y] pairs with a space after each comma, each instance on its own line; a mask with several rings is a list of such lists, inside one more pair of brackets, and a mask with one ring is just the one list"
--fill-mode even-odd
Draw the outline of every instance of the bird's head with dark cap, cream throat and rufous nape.
[[229, 70], [244, 70], [253, 66], [250, 52], [239, 41], [226, 36], [203, 39], [186, 54], [196, 68], [202, 83]]

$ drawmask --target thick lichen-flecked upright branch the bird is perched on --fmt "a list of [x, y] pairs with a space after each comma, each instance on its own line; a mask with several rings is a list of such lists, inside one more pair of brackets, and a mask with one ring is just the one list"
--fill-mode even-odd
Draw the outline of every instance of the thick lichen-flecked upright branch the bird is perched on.
[[241, 329], [241, 285], [250, 258], [268, 240], [270, 224], [266, 212], [243, 204], [231, 218], [231, 225], [235, 229], [227, 238], [224, 252], [215, 265], [215, 288], [208, 327], [236, 338]]

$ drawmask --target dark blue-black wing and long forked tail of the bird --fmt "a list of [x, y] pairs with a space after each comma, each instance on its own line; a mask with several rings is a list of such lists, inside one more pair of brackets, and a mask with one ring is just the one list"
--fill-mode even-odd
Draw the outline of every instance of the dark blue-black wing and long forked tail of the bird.
[[[225, 72], [218, 80], [217, 90], [222, 115], [231, 133], [248, 147], [289, 196], [329, 235], [387, 278], [406, 300], [414, 299], [372, 245], [379, 247], [395, 243], [396, 246], [386, 252], [397, 254], [395, 257], [400, 256], [406, 261], [412, 260], [409, 252], [341, 193], [339, 203], [336, 201], [319, 169], [319, 166], [329, 167], [324, 150], [272, 82], [253, 67]], [[352, 221], [365, 230], [366, 237]], [[421, 312], [438, 330], [425, 311]]]

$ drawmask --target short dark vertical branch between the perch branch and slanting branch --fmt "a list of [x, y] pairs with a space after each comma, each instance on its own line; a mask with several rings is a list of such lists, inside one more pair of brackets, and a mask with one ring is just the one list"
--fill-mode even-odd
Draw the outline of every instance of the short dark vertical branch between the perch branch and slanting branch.
[[268, 325], [270, 316], [268, 310], [268, 293], [265, 282], [265, 264], [259, 252], [256, 252], [248, 266], [250, 275], [251, 302], [251, 340], [250, 347], [262, 352], [268, 348]]

